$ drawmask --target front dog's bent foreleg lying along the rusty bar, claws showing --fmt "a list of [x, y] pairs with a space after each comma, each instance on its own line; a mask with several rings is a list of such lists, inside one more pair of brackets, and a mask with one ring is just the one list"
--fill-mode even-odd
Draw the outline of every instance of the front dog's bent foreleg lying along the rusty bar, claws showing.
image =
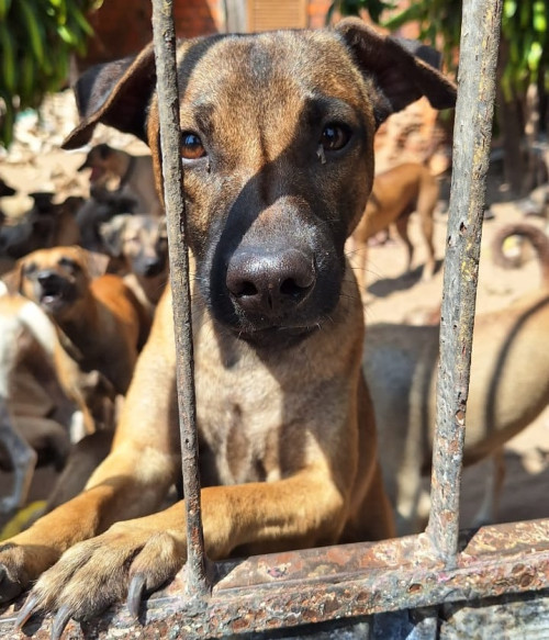
[[[323, 465], [272, 483], [202, 491], [206, 553], [254, 553], [334, 542], [344, 520], [344, 498]], [[320, 534], [322, 531], [322, 534]], [[116, 523], [102, 536], [69, 549], [36, 583], [20, 611], [57, 609], [59, 632], [70, 617], [94, 616], [130, 593], [136, 615], [144, 590], [158, 588], [186, 560], [184, 507]]]

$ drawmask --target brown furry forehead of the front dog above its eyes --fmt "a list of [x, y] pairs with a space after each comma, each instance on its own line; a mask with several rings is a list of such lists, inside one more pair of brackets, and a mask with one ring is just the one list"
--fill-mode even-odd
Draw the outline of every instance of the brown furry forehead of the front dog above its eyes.
[[[365, 82], [343, 41], [332, 32], [281, 31], [232, 35], [180, 50], [181, 112], [208, 121], [303, 111], [323, 102], [365, 108]], [[314, 115], [314, 114], [313, 114]]]

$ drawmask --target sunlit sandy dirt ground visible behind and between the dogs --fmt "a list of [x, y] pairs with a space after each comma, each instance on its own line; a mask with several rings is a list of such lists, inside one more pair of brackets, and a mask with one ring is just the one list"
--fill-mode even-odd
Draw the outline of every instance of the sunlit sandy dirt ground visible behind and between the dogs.
[[[86, 194], [86, 177], [76, 172], [83, 151], [60, 150], [63, 137], [71, 130], [76, 120], [70, 100], [59, 96], [52, 99], [42, 113], [42, 122], [36, 122], [30, 113], [22, 119], [18, 130], [18, 144], [9, 155], [0, 155], [0, 175], [23, 193], [56, 190], [59, 194]], [[109, 142], [113, 146], [125, 147], [133, 153], [146, 153], [141, 143], [128, 136], [99, 128], [93, 142]], [[1, 150], [0, 150], [1, 154]], [[523, 213], [514, 202], [505, 202], [505, 193], [497, 177], [490, 182], [490, 202], [494, 214], [484, 222], [478, 313], [504, 308], [511, 300], [539, 282], [538, 265], [533, 256], [520, 269], [504, 271], [492, 263], [490, 240], [495, 229], [507, 222], [523, 220]], [[2, 207], [9, 215], [18, 215], [24, 209], [25, 199], [13, 201]], [[424, 262], [424, 247], [417, 233], [416, 221], [412, 221], [411, 237], [416, 245], [415, 265], [418, 268], [403, 274], [405, 265], [404, 247], [399, 240], [384, 246], [371, 247], [368, 265], [367, 323], [416, 321], [423, 312], [436, 307], [441, 297], [444, 240], [447, 215], [440, 203], [435, 218], [435, 239], [439, 268], [430, 282], [421, 281]], [[542, 226], [539, 218], [530, 218], [533, 224]], [[549, 517], [549, 502], [545, 499], [549, 481], [549, 411], [506, 446], [506, 479], [500, 506], [498, 521], [512, 521], [538, 517]], [[467, 469], [462, 487], [462, 526], [470, 524], [475, 506], [481, 497], [482, 479], [486, 465]], [[38, 470], [32, 489], [31, 499], [45, 497], [53, 479], [48, 469]], [[0, 494], [9, 490], [9, 476], [0, 475]]]

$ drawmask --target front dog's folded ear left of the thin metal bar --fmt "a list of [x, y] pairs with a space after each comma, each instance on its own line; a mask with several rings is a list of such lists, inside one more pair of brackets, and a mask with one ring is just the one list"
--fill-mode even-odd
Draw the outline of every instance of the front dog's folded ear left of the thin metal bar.
[[156, 87], [153, 45], [137, 56], [97, 65], [75, 86], [80, 124], [65, 138], [64, 149], [88, 144], [99, 122], [146, 142], [147, 104]]

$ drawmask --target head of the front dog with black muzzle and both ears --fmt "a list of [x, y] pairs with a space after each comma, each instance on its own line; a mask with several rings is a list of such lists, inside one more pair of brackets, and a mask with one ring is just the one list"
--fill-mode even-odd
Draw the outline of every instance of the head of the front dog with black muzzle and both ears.
[[[100, 121], [147, 137], [159, 183], [153, 50], [114, 65], [81, 79], [83, 121], [65, 146], [89, 139]], [[335, 32], [187, 41], [178, 71], [202, 297], [256, 345], [304, 337], [339, 301], [345, 240], [371, 189], [377, 125], [422, 94], [450, 106], [455, 89], [360, 21]]]

